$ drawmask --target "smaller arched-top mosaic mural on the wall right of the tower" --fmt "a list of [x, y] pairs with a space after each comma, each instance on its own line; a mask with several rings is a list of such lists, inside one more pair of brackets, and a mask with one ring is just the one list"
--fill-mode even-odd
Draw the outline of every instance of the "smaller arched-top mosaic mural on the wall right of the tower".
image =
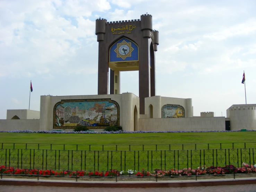
[[167, 104], [162, 107], [162, 118], [178, 118], [185, 117], [185, 109], [181, 105]]

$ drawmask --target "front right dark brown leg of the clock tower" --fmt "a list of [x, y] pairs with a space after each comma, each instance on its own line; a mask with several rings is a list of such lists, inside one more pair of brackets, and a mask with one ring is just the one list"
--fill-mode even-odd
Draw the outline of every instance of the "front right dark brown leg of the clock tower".
[[145, 97], [150, 97], [150, 60], [148, 38], [139, 47], [139, 114], [145, 114]]

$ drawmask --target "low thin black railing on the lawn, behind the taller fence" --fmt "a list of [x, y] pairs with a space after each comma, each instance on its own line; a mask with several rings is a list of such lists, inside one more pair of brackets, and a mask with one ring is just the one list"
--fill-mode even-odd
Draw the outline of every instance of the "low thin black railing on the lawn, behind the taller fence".
[[198, 149], [237, 149], [256, 148], [256, 142], [247, 143], [186, 143], [155, 145], [79, 145], [54, 143], [0, 143], [0, 149], [48, 149], [48, 150], [87, 150], [87, 151], [147, 151], [147, 150], [198, 150]]

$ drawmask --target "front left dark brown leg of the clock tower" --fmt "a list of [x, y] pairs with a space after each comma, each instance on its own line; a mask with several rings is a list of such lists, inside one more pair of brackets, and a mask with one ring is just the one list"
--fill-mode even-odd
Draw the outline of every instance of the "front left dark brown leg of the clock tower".
[[109, 84], [109, 60], [108, 47], [105, 47], [104, 41], [99, 42], [99, 65], [98, 65], [98, 95], [108, 94]]

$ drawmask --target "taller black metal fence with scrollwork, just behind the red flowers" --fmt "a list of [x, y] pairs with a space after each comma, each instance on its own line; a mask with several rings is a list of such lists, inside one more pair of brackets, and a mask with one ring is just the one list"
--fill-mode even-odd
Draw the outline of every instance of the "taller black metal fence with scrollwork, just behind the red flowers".
[[0, 149], [0, 166], [52, 170], [170, 170], [256, 164], [256, 148], [196, 150]]

